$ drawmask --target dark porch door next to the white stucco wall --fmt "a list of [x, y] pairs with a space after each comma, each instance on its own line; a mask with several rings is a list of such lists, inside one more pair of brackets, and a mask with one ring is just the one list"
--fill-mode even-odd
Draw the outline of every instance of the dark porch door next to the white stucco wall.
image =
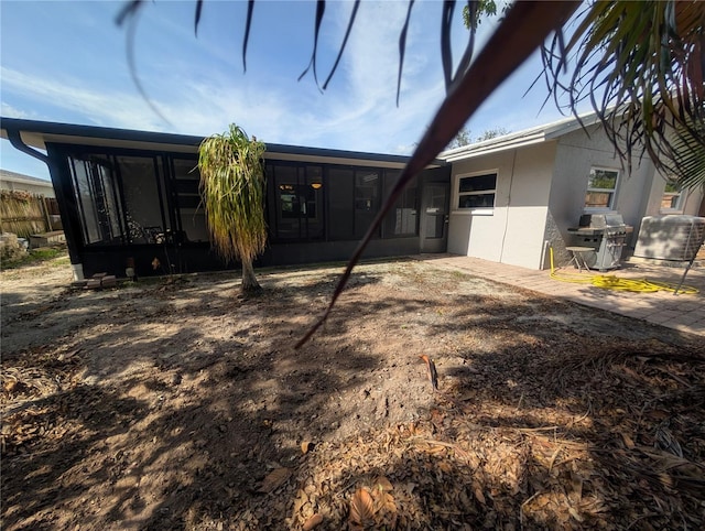
[[421, 194], [421, 252], [445, 252], [448, 247], [451, 185], [425, 183]]

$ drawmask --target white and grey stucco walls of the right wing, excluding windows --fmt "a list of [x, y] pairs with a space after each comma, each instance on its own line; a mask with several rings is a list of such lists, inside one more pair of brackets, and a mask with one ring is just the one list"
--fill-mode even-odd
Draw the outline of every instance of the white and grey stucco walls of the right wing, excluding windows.
[[[588, 134], [589, 133], [589, 134]], [[641, 219], [660, 213], [664, 181], [644, 156], [622, 167], [601, 128], [593, 126], [521, 149], [474, 156], [453, 163], [448, 252], [539, 269], [544, 242], [553, 246], [558, 264], [570, 259], [570, 227], [585, 208], [588, 175], [594, 166], [619, 172], [612, 209], [633, 227], [627, 253], [637, 241]], [[457, 208], [458, 180], [468, 174], [497, 172], [495, 208], [471, 214]], [[701, 189], [691, 192], [682, 214], [697, 215]], [[562, 261], [562, 258], [565, 260]]]

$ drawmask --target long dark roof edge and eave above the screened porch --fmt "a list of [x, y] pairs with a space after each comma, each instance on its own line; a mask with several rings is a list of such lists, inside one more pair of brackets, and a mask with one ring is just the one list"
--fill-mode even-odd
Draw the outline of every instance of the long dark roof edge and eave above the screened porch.
[[[204, 140], [204, 137], [187, 134], [0, 118], [0, 136], [7, 139], [9, 131], [18, 132], [26, 145], [40, 150], [46, 150], [46, 144], [57, 143], [195, 154], [198, 151], [198, 145]], [[267, 144], [264, 158], [269, 160], [395, 169], [403, 167], [410, 159], [404, 155], [273, 143]], [[445, 161], [435, 160], [429, 167], [444, 165], [446, 165]]]

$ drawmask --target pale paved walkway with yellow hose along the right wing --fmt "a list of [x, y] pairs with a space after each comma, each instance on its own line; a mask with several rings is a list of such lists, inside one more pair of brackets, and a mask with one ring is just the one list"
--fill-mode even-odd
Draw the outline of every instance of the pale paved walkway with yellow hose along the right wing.
[[[696, 294], [658, 291], [651, 293], [607, 290], [589, 283], [562, 282], [551, 278], [551, 271], [535, 271], [489, 262], [478, 258], [454, 254], [432, 254], [419, 257], [434, 266], [454, 269], [491, 279], [503, 284], [517, 285], [545, 295], [584, 304], [586, 306], [607, 310], [629, 317], [668, 326], [681, 332], [705, 336], [705, 268], [692, 268], [684, 286], [698, 290]], [[578, 273], [576, 269], [556, 270], [558, 277], [592, 278], [595, 275], [614, 275], [619, 279], [649, 280], [677, 285], [683, 277], [683, 268], [674, 268], [650, 263], [626, 262], [618, 270], [599, 273], [596, 271]], [[705, 350], [705, 342], [703, 345]]]

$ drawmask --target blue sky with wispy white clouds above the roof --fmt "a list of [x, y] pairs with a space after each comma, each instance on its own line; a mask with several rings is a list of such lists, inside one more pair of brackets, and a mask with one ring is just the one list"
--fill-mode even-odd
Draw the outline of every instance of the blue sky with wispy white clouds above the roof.
[[[462, 4], [462, 2], [458, 2]], [[131, 76], [122, 2], [0, 1], [0, 101], [3, 117], [212, 134], [235, 122], [265, 142], [408, 154], [444, 97], [438, 29], [441, 2], [417, 1], [412, 13], [402, 91], [395, 105], [399, 33], [406, 1], [364, 1], [345, 55], [325, 93], [308, 74], [315, 2], [254, 6], [247, 73], [241, 45], [247, 3], [206, 1], [194, 35], [195, 1], [148, 2], [137, 26], [137, 74], [160, 117]], [[345, 33], [351, 2], [328, 2], [318, 47], [323, 83]], [[454, 55], [467, 40], [456, 10]], [[496, 20], [480, 24], [478, 50]], [[473, 136], [519, 131], [561, 118], [539, 83], [538, 54], [467, 123]], [[48, 178], [45, 165], [0, 142], [0, 166]]]

